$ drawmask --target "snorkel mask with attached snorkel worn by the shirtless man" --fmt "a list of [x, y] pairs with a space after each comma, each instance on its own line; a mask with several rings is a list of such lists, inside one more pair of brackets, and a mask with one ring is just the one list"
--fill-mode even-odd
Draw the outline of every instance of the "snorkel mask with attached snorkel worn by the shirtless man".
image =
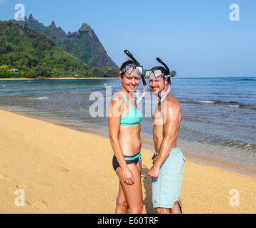
[[[167, 91], [164, 92], [162, 91], [160, 94], [156, 94], [157, 95], [157, 98], [159, 100], [159, 103], [163, 103], [164, 100], [167, 98], [167, 95], [169, 95], [169, 92], [171, 91], [171, 86], [172, 86], [172, 83], [171, 83], [171, 76], [170, 76], [170, 73], [169, 73], [169, 68], [168, 66], [160, 59], [160, 58], [157, 58], [157, 61], [159, 63], [161, 63], [164, 68], [166, 69], [167, 71], [167, 75], [166, 73], [162, 72], [160, 69], [154, 69], [152, 68], [152, 70], [149, 70], [149, 71], [146, 71], [146, 75], [145, 77], [150, 81], [150, 80], [155, 80], [155, 81], [158, 81], [160, 80], [162, 77], [164, 79], [166, 79], [168, 81], [168, 84], [167, 84]], [[160, 98], [159, 98], [160, 97]]]

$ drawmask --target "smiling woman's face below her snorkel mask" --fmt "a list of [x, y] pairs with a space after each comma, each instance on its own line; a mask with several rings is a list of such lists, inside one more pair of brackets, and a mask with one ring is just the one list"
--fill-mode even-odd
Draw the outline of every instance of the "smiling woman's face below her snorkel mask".
[[133, 93], [139, 86], [139, 77], [135, 69], [132, 71], [131, 75], [124, 73], [123, 77], [119, 76], [119, 78], [128, 93]]

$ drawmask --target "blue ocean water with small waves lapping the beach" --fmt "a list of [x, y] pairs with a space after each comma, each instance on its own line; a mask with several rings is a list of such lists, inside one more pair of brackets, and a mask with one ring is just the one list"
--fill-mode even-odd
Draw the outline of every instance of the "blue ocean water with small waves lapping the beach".
[[[111, 86], [111, 94], [104, 83]], [[0, 81], [0, 108], [107, 136], [106, 110], [120, 88], [117, 78]], [[102, 95], [103, 116], [90, 115], [93, 94]], [[172, 78], [172, 95], [182, 106], [178, 138], [182, 150], [256, 171], [256, 78]], [[151, 116], [144, 117], [142, 139], [152, 142]]]

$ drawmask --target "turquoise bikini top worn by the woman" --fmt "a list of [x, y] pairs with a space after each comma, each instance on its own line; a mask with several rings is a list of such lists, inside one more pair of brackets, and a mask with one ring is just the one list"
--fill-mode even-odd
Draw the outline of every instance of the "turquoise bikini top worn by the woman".
[[130, 103], [127, 97], [120, 91], [120, 93], [124, 96], [129, 104], [129, 111], [126, 115], [121, 117], [120, 125], [121, 126], [131, 126], [137, 125], [138, 123], [142, 122], [142, 113], [134, 108]]

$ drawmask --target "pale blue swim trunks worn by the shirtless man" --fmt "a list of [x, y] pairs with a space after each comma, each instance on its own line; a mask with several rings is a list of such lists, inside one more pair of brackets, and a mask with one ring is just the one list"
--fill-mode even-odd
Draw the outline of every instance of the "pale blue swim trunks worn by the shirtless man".
[[[157, 156], [157, 153], [155, 154]], [[179, 199], [185, 158], [179, 147], [172, 148], [160, 168], [158, 178], [152, 178], [153, 207], [172, 208]]]

